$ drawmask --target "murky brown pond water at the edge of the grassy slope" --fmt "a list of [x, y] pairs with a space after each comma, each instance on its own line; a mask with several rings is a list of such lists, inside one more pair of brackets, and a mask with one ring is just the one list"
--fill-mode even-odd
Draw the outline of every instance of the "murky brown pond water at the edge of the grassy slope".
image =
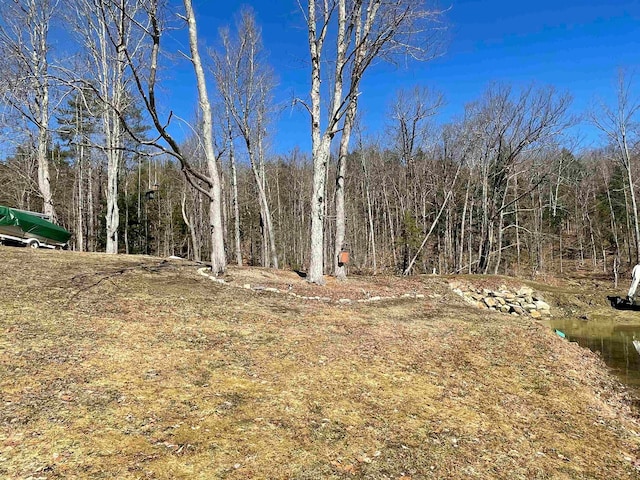
[[635, 339], [640, 340], [640, 312], [634, 313], [638, 321], [632, 324], [620, 324], [615, 318], [595, 315], [588, 321], [558, 318], [548, 323], [551, 328], [563, 332], [567, 340], [600, 352], [613, 373], [633, 390], [636, 398], [640, 398], [640, 354], [632, 343]]

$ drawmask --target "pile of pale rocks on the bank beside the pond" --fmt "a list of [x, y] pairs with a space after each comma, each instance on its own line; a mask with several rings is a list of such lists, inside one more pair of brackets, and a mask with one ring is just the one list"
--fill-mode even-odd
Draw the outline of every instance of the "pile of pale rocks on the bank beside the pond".
[[477, 308], [485, 308], [511, 315], [528, 315], [533, 318], [551, 315], [551, 307], [539, 293], [530, 287], [518, 290], [501, 285], [497, 290], [477, 288], [460, 282], [451, 282], [449, 287], [467, 303]]

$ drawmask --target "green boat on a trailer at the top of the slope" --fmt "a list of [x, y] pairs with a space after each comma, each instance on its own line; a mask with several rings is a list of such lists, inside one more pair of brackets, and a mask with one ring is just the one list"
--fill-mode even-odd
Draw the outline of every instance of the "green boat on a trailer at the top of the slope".
[[22, 243], [31, 248], [66, 248], [71, 233], [46, 215], [0, 205], [0, 242]]

